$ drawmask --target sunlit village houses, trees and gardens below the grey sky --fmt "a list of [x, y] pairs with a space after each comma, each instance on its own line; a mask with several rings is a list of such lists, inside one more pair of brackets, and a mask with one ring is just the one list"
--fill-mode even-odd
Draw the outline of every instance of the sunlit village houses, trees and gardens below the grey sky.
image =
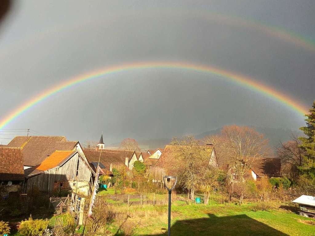
[[[278, 156], [270, 155], [263, 135], [236, 125], [203, 140], [192, 135], [174, 137], [169, 145], [154, 150], [140, 150], [133, 139], [123, 140], [119, 148], [106, 147], [103, 134], [96, 145], [81, 145], [65, 136], [15, 136], [0, 147], [2, 224], [8, 231], [18, 232], [10, 235], [151, 235], [150, 229], [154, 235], [164, 235], [166, 188], [174, 185], [169, 178], [175, 176], [178, 184], [175, 182], [169, 195], [175, 208], [171, 213], [176, 222], [173, 235], [190, 235], [180, 228], [195, 223], [205, 227], [194, 228], [196, 235], [209, 235], [210, 231], [221, 235], [207, 225], [232, 220], [210, 214], [220, 208], [238, 209], [245, 218], [248, 212], [293, 217], [304, 225], [301, 232], [311, 233], [315, 200], [310, 195], [314, 191], [302, 184], [302, 177], [296, 177], [297, 170], [282, 155], [288, 150], [297, 153], [299, 146], [292, 147], [292, 143], [278, 147]], [[237, 151], [237, 147], [241, 149]], [[208, 207], [209, 218], [189, 223]], [[189, 217], [178, 213], [181, 208], [190, 211]], [[235, 216], [229, 213], [225, 217]], [[258, 235], [287, 235], [270, 227], [276, 219], [268, 226], [270, 216], [265, 217], [264, 223], [254, 217], [242, 220], [241, 225], [262, 228]], [[150, 219], [154, 223], [148, 223]], [[159, 224], [162, 227], [156, 226]], [[255, 228], [243, 225], [237, 232], [248, 235]]]

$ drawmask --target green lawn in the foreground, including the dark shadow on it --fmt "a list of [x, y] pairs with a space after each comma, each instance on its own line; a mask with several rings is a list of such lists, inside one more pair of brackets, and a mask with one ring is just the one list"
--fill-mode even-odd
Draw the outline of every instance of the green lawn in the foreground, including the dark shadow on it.
[[[134, 227], [132, 235], [167, 235], [167, 206], [135, 206], [129, 216], [124, 224]], [[278, 208], [254, 212], [250, 204], [173, 205], [171, 224], [173, 236], [315, 235], [313, 219]], [[114, 222], [108, 229], [113, 235], [123, 235], [117, 232], [119, 226]]]

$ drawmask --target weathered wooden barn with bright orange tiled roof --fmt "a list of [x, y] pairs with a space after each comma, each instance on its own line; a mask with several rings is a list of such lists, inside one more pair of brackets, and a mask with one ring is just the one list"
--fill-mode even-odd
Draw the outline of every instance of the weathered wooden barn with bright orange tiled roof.
[[25, 172], [25, 193], [33, 187], [42, 192], [73, 191], [89, 195], [95, 172], [78, 150], [56, 150]]

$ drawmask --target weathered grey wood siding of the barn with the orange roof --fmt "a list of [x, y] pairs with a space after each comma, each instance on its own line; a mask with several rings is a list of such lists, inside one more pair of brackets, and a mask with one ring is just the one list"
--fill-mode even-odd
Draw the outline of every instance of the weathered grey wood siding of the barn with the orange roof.
[[[78, 176], [77, 173], [77, 161], [79, 160]], [[92, 172], [87, 164], [79, 158], [76, 153], [62, 166], [45, 171], [42, 174], [33, 176], [27, 179], [26, 191], [30, 190], [32, 186], [37, 187], [40, 191], [51, 192], [54, 190], [54, 183], [57, 181], [84, 181], [89, 182], [92, 176]]]

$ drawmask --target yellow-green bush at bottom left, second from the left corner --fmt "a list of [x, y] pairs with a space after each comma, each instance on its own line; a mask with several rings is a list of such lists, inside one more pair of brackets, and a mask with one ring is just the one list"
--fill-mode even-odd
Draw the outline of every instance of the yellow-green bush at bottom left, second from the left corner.
[[21, 236], [43, 236], [47, 226], [47, 220], [33, 220], [30, 216], [28, 220], [21, 221], [19, 233]]

